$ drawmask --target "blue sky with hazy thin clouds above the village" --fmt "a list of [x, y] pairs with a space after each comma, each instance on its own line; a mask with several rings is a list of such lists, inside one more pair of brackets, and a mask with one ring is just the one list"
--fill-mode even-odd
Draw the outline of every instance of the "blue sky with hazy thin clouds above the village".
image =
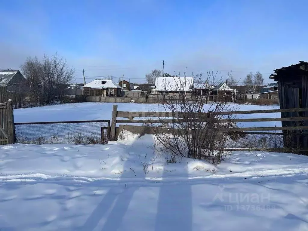
[[[0, 68], [58, 52], [76, 82], [112, 75], [142, 83], [154, 68], [240, 80], [308, 60], [307, 1], [0, 0]], [[102, 77], [104, 78], [104, 77]]]

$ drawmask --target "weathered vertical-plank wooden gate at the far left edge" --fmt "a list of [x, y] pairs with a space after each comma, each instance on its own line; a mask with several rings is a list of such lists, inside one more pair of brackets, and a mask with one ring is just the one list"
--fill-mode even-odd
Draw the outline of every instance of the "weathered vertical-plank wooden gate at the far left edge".
[[12, 99], [9, 99], [6, 103], [0, 103], [0, 145], [14, 143], [14, 115]]

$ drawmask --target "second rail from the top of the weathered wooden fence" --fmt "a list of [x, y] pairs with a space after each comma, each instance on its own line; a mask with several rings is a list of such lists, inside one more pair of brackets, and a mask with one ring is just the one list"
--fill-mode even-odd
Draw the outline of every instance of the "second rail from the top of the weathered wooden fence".
[[[270, 122], [270, 121], [302, 121], [308, 120], [308, 117], [290, 117], [290, 118], [252, 118], [252, 119], [232, 119], [216, 120], [215, 123], [239, 123], [239, 122]], [[211, 119], [161, 119], [161, 120], [116, 120], [116, 123], [183, 123], [183, 122], [214, 122]]]

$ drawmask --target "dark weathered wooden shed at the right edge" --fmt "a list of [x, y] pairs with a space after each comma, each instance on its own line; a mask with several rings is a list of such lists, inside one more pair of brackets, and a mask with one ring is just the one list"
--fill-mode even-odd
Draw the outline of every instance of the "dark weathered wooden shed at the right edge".
[[[278, 81], [278, 95], [281, 109], [308, 107], [308, 63], [299, 61], [298, 64], [274, 70], [270, 79]], [[308, 111], [282, 112], [282, 118], [308, 117]], [[308, 126], [308, 120], [282, 121], [283, 127]], [[308, 149], [308, 130], [284, 131], [284, 145], [289, 148]], [[304, 152], [308, 154], [308, 152]]]

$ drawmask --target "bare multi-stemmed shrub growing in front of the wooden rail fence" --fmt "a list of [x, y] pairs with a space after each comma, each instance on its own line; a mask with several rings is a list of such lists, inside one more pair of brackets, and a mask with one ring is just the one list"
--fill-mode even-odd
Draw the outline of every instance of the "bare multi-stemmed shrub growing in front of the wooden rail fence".
[[[189, 78], [185, 71], [184, 78], [176, 75], [174, 81], [164, 83], [165, 100], [162, 107], [163, 111], [171, 113], [165, 117], [172, 117], [172, 121], [163, 118], [158, 123], [150, 123], [150, 126], [155, 134], [156, 151], [171, 154], [167, 161], [173, 162], [176, 157], [189, 157], [219, 164], [230, 154], [224, 151], [229, 138], [224, 130], [233, 126], [229, 112], [234, 109], [234, 104], [225, 104], [217, 97], [216, 102], [205, 106], [209, 94], [197, 95], [193, 91], [193, 83], [205, 83], [204, 87], [211, 91], [206, 83], [215, 85], [216, 75], [208, 72], [205, 79], [202, 74]], [[174, 95], [171, 92], [177, 93]], [[153, 112], [154, 115], [158, 113]], [[223, 112], [227, 115], [222, 115]], [[224, 119], [224, 123], [220, 123], [221, 119]], [[166, 132], [162, 132], [162, 129]]]

